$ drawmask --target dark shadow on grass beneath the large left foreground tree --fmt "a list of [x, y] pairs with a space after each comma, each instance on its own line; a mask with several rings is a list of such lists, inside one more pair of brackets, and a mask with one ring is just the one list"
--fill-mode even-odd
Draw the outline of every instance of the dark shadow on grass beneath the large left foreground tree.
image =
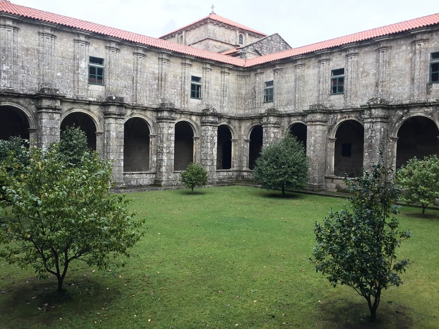
[[[29, 278], [13, 283], [0, 299], [3, 313], [0, 315], [0, 326], [29, 328], [52, 322], [68, 324], [94, 308], [101, 310], [120, 295], [119, 291], [107, 290], [97, 281], [85, 278], [67, 279], [64, 286], [65, 291], [58, 293], [56, 279], [41, 281]], [[2, 290], [5, 288], [3, 286]]]

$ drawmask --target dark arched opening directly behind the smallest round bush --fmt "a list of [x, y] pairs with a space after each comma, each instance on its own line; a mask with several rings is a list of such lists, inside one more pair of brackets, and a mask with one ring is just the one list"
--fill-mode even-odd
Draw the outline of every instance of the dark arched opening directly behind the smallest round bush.
[[189, 123], [175, 124], [174, 170], [186, 170], [194, 161], [194, 131]]

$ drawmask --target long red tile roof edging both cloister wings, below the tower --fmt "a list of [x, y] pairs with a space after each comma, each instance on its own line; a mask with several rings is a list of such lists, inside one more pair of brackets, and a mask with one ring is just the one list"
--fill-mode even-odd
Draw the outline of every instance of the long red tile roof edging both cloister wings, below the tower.
[[[89, 32], [99, 33], [105, 36], [112, 36], [114, 38], [131, 41], [134, 43], [143, 44], [159, 49], [174, 51], [180, 54], [186, 54], [194, 57], [204, 58], [211, 61], [230, 64], [237, 67], [251, 67], [270, 61], [278, 61], [288, 57], [294, 57], [302, 54], [312, 53], [317, 50], [323, 50], [342, 46], [348, 43], [355, 43], [367, 39], [376, 38], [379, 36], [386, 36], [398, 32], [418, 29], [424, 26], [439, 24], [439, 14], [432, 14], [421, 18], [411, 19], [392, 25], [383, 26], [377, 29], [371, 29], [363, 32], [350, 34], [349, 36], [342, 36], [339, 38], [313, 43], [308, 46], [288, 49], [278, 53], [268, 54], [260, 57], [243, 60], [237, 57], [231, 57], [224, 54], [214, 53], [212, 51], [185, 46], [180, 43], [173, 43], [162, 39], [151, 38], [149, 36], [142, 36], [141, 34], [126, 32], [119, 29], [114, 29], [105, 25], [95, 24], [88, 21], [81, 21], [79, 19], [70, 18], [58, 14], [52, 14], [47, 11], [40, 11], [29, 7], [11, 4], [9, 2], [0, 1], [0, 12], [19, 15], [23, 17], [33, 18], [41, 21], [47, 21], [59, 25], [69, 26], [75, 29], [81, 29]], [[217, 16], [217, 15], [216, 15]]]

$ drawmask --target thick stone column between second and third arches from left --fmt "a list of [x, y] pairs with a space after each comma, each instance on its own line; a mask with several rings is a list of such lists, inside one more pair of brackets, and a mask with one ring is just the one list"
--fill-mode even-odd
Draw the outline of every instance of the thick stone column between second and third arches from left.
[[126, 109], [122, 97], [108, 97], [104, 102], [104, 158], [114, 160], [113, 177], [118, 186], [123, 182], [123, 130]]

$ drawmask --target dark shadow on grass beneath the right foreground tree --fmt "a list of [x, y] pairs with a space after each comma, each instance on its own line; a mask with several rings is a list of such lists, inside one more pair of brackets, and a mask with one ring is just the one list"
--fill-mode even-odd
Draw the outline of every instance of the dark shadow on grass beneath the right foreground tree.
[[371, 321], [366, 300], [364, 303], [335, 300], [321, 304], [320, 310], [324, 320], [331, 323], [328, 329], [410, 329], [413, 326], [412, 310], [391, 302], [381, 301], [376, 321]]

